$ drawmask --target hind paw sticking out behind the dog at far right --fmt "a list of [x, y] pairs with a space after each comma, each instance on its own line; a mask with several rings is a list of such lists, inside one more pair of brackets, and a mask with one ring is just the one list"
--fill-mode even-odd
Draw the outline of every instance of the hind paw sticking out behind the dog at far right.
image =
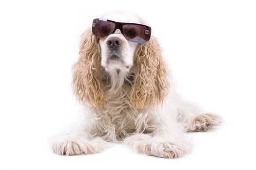
[[221, 123], [221, 119], [214, 114], [206, 113], [199, 115], [186, 127], [187, 132], [205, 132]]

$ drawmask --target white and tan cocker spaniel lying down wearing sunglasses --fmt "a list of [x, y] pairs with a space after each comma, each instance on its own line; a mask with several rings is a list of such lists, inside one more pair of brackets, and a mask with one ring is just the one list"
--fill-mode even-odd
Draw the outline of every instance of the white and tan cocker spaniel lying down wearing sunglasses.
[[158, 41], [140, 17], [114, 12], [102, 18], [82, 34], [73, 66], [74, 91], [88, 118], [53, 151], [99, 153], [108, 142], [125, 142], [163, 158], [188, 153], [185, 132], [208, 131], [221, 119], [175, 93]]

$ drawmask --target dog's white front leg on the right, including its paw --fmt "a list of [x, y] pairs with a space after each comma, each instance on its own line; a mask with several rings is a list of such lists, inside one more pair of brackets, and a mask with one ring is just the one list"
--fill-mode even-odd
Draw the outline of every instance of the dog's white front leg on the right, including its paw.
[[[162, 158], [178, 158], [190, 151], [191, 144], [184, 140], [180, 129], [158, 129], [153, 134], [136, 134], [125, 139], [138, 153]], [[181, 133], [181, 134], [180, 134]]]

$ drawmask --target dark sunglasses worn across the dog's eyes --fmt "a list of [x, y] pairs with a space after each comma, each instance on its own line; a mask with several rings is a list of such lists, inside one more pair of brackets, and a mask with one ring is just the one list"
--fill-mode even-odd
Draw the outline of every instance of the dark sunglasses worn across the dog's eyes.
[[150, 39], [151, 27], [137, 24], [116, 22], [108, 19], [96, 18], [93, 20], [92, 32], [99, 37], [106, 37], [119, 29], [124, 37], [131, 42], [143, 43]]

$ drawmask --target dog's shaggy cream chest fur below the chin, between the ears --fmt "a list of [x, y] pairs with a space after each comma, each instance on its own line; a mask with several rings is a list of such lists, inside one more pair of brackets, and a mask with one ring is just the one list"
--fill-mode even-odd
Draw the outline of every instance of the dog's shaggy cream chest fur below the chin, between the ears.
[[136, 121], [141, 110], [133, 107], [125, 89], [107, 95], [106, 104], [98, 107], [95, 113], [95, 129], [106, 140], [121, 140], [138, 131]]

